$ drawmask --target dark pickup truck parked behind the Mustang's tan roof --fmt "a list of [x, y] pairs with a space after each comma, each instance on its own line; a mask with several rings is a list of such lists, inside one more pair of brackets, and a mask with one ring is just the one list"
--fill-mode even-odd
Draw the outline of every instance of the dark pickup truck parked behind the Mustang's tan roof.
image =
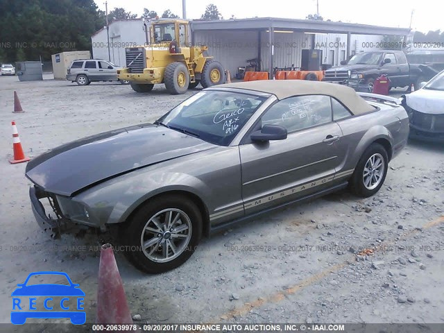
[[390, 87], [406, 87], [433, 78], [438, 71], [427, 65], [413, 65], [407, 62], [403, 51], [382, 50], [356, 53], [350, 60], [341, 61], [340, 67], [325, 71], [323, 81], [349, 85], [355, 90], [373, 92], [375, 79], [386, 74]]

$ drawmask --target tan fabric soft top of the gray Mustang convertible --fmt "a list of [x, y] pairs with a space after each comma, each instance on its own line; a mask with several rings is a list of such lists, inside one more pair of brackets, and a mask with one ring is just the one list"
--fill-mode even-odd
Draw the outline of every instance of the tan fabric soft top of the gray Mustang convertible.
[[343, 103], [353, 114], [375, 110], [372, 105], [357, 95], [354, 89], [336, 83], [309, 80], [257, 80], [227, 83], [214, 88], [238, 88], [266, 92], [275, 95], [280, 100], [298, 95], [328, 95]]

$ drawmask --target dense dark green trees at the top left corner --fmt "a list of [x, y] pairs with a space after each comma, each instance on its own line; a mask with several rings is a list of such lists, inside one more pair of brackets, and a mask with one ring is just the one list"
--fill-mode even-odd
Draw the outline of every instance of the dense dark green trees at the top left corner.
[[0, 55], [4, 62], [48, 61], [53, 53], [90, 50], [103, 26], [94, 0], [0, 0]]

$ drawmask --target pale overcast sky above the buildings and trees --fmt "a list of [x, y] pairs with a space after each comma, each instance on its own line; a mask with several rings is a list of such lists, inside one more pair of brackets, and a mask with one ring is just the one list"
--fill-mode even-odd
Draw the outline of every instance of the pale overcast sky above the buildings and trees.
[[[95, 0], [105, 10], [104, 0]], [[224, 19], [234, 15], [246, 17], [283, 17], [305, 19], [316, 13], [316, 0], [187, 0], [187, 19], [198, 19], [205, 7], [214, 3]], [[444, 31], [444, 3], [442, 0], [318, 0], [319, 15], [324, 19], [376, 26], [411, 28], [427, 33], [429, 30]], [[182, 0], [108, 0], [108, 10], [123, 7], [133, 14], [141, 15], [144, 8], [155, 10], [160, 16], [171, 10], [182, 17]]]

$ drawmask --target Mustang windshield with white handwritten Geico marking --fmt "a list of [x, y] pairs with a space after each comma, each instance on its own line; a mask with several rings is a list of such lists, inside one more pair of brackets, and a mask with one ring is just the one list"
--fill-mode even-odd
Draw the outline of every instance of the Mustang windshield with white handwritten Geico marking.
[[156, 123], [228, 146], [266, 97], [238, 92], [198, 92]]

